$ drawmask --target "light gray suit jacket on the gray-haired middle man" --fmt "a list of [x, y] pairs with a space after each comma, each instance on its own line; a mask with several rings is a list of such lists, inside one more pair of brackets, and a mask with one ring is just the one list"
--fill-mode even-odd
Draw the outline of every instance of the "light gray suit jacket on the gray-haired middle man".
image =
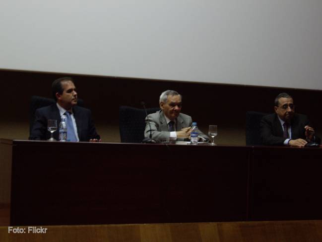
[[[151, 124], [152, 139], [158, 143], [170, 143], [169, 127], [163, 111], [159, 110], [155, 113], [151, 113], [145, 118], [145, 138], [150, 137], [150, 126], [148, 124], [147, 118], [150, 120]], [[176, 122], [176, 130], [180, 131], [183, 128], [191, 127], [192, 123], [193, 119], [191, 116], [184, 113], [180, 113]], [[204, 135], [200, 130], [199, 136], [206, 139], [206, 141], [209, 141], [209, 137]], [[178, 138], [177, 141], [189, 141], [189, 139]]]

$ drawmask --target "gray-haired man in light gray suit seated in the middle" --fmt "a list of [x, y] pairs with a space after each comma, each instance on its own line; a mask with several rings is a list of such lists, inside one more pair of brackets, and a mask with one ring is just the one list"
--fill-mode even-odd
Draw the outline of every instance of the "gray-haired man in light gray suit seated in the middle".
[[[192, 117], [180, 113], [182, 107], [182, 96], [173, 90], [162, 92], [159, 100], [161, 110], [149, 114], [145, 118], [145, 138], [152, 139], [157, 143], [170, 143], [175, 141], [189, 141]], [[150, 129], [150, 125], [151, 129]], [[209, 137], [199, 130], [199, 139], [209, 141]]]

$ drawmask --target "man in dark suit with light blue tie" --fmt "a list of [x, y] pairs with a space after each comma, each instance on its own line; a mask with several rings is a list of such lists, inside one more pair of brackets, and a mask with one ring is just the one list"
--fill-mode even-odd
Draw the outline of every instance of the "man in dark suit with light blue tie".
[[[48, 140], [50, 133], [47, 130], [48, 119], [57, 120], [65, 118], [67, 123], [67, 140], [99, 142], [100, 136], [96, 133], [89, 109], [76, 106], [77, 92], [71, 78], [60, 78], [52, 84], [55, 104], [36, 110], [30, 140]], [[54, 138], [59, 140], [59, 127], [54, 132]]]

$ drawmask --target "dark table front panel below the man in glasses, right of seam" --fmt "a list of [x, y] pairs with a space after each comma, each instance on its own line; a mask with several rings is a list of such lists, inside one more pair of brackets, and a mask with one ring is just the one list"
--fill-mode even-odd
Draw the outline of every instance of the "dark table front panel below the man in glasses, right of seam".
[[322, 219], [322, 149], [256, 147], [251, 220]]

